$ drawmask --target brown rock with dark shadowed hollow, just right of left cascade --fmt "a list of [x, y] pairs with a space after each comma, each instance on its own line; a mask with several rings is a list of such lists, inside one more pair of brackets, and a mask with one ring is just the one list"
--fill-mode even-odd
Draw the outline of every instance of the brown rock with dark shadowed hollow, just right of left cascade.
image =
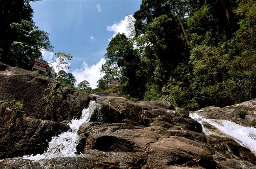
[[[79, 128], [78, 134], [80, 139], [86, 138], [86, 144], [82, 147], [99, 151], [103, 151], [102, 149], [105, 151], [125, 149], [128, 152], [143, 152], [147, 144], [156, 142], [159, 138], [152, 131], [125, 123], [102, 123], [99, 125], [99, 123], [89, 122]], [[80, 143], [78, 145], [81, 146]]]

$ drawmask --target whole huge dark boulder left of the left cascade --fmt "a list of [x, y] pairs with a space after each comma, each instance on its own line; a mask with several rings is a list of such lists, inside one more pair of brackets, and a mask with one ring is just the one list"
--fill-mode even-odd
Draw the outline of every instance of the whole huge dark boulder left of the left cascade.
[[43, 153], [93, 96], [0, 63], [0, 159]]

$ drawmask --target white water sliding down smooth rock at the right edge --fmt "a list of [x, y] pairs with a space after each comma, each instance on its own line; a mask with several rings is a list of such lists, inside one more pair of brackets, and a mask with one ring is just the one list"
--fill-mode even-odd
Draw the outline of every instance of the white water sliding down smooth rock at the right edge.
[[[190, 114], [190, 117], [196, 120], [200, 124], [207, 122], [215, 126], [215, 128], [217, 128], [220, 132], [224, 133], [227, 136], [230, 136], [235, 141], [237, 141], [240, 145], [247, 147], [256, 155], [256, 129], [255, 128], [242, 126], [227, 120], [206, 119], [198, 115], [197, 113]], [[207, 129], [204, 126], [203, 126], [203, 132], [206, 135], [219, 136], [218, 133]]]

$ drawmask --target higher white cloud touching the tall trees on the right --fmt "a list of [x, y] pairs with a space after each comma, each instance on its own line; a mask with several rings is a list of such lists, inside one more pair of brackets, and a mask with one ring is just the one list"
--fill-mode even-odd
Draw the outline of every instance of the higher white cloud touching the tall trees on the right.
[[112, 26], [107, 26], [107, 31], [114, 32], [112, 38], [115, 37], [117, 33], [125, 33], [126, 37], [132, 38], [134, 37], [135, 31], [134, 22], [135, 19], [132, 15], [126, 15], [124, 20], [121, 20], [119, 23], [114, 23]]

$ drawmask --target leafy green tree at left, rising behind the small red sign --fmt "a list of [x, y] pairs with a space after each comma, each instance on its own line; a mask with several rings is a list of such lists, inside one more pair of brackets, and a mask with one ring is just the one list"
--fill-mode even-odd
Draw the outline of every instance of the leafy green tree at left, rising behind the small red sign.
[[10, 31], [16, 38], [9, 46], [8, 57], [2, 57], [6, 64], [31, 69], [33, 61], [42, 58], [41, 50], [52, 51], [48, 33], [39, 30], [33, 22], [12, 23]]

